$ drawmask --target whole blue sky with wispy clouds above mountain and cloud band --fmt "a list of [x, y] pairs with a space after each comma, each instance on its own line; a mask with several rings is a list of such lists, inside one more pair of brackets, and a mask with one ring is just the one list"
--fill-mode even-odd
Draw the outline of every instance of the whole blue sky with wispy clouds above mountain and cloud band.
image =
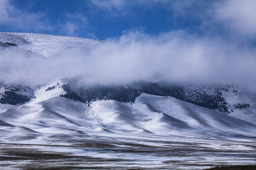
[[138, 29], [251, 41], [256, 34], [255, 0], [1, 0], [0, 6], [1, 32], [100, 40]]

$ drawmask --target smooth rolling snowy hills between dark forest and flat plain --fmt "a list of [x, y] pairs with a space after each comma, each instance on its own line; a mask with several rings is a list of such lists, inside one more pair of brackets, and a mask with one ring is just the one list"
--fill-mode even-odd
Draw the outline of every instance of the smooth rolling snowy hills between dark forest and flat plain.
[[31, 102], [1, 113], [1, 124], [27, 127], [41, 133], [86, 133], [106, 129], [162, 136], [256, 134], [256, 125], [252, 123], [172, 97], [143, 93], [134, 104], [110, 100], [92, 102], [89, 107], [60, 97], [59, 94], [65, 93], [61, 87], [45, 89], [39, 89], [37, 98]]

